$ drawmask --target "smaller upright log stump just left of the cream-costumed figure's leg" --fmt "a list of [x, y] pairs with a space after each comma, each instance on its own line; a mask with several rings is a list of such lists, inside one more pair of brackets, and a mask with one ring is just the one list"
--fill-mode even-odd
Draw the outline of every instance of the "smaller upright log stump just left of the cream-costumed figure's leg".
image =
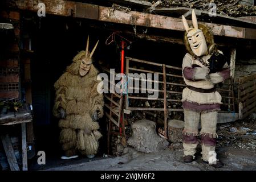
[[182, 142], [182, 130], [184, 129], [184, 121], [170, 119], [168, 121], [168, 137], [172, 143]]

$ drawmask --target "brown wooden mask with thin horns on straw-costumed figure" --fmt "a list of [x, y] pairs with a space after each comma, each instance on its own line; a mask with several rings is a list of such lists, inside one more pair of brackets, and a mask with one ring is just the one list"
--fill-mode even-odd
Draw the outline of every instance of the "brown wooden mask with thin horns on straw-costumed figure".
[[89, 50], [89, 35], [88, 35], [87, 44], [86, 44], [86, 55], [80, 58], [81, 60], [81, 64], [79, 67], [80, 76], [85, 76], [88, 73], [88, 71], [90, 71], [91, 65], [92, 65], [92, 55], [94, 55], [94, 51], [98, 43], [99, 43], [99, 40], [97, 41], [96, 45], [94, 46], [94, 49], [92, 49], [92, 52], [90, 53], [88, 51]]

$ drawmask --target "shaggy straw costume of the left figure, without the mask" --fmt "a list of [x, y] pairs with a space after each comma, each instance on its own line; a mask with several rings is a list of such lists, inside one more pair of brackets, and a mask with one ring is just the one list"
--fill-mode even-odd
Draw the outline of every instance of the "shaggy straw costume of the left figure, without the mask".
[[103, 94], [97, 92], [97, 70], [91, 65], [85, 76], [79, 75], [80, 58], [86, 55], [81, 51], [67, 67], [66, 72], [55, 82], [56, 98], [54, 116], [60, 117], [59, 109], [66, 112], [66, 117], [59, 120], [60, 143], [66, 156], [94, 155], [99, 147], [101, 133], [99, 123], [94, 121], [95, 112], [98, 118], [103, 117]]

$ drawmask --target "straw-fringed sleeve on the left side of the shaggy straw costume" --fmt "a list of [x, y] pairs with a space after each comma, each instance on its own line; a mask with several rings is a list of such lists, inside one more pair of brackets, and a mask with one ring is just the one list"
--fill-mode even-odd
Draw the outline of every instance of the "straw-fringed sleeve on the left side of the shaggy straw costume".
[[54, 88], [56, 90], [55, 94], [55, 104], [53, 107], [53, 115], [56, 118], [59, 118], [59, 108], [62, 107], [66, 110], [67, 100], [66, 100], [66, 92], [67, 92], [67, 80], [66, 73], [60, 76], [59, 80], [57, 80], [54, 84]]

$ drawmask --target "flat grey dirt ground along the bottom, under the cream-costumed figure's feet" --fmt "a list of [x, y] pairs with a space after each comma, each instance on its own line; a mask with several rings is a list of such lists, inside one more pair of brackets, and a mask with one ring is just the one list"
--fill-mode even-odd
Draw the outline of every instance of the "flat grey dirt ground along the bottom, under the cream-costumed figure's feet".
[[[108, 171], [136, 171], [136, 170], [173, 170], [173, 171], [205, 171], [205, 170], [256, 170], [256, 154], [250, 150], [234, 147], [221, 147], [217, 150], [219, 158], [224, 162], [224, 168], [213, 168], [201, 160], [197, 155], [192, 163], [182, 162], [182, 150], [161, 151], [159, 154], [142, 154], [131, 149], [129, 154], [115, 158], [66, 160], [60, 164], [35, 167], [34, 170], [47, 171], [82, 171], [82, 170], [108, 170]], [[48, 167], [47, 167], [48, 166]]]

